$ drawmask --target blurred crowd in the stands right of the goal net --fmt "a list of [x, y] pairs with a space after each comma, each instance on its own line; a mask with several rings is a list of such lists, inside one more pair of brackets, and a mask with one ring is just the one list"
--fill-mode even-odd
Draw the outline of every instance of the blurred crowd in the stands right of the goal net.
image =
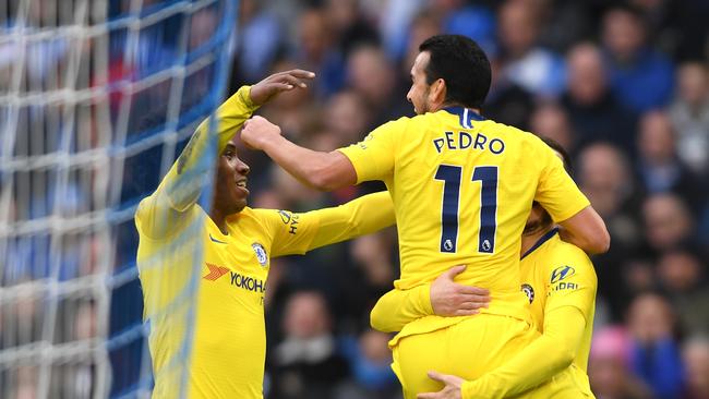
[[[552, 137], [603, 216], [589, 366], [597, 397], [709, 398], [709, 3], [633, 0], [242, 1], [230, 93], [289, 68], [317, 73], [260, 113], [321, 150], [412, 116], [418, 45], [476, 39], [493, 64], [483, 116]], [[307, 188], [243, 148], [251, 206], [309, 210], [381, 190]], [[452, 265], [453, 266], [453, 265]], [[395, 231], [274, 261], [269, 398], [393, 398], [369, 311], [398, 276]]]

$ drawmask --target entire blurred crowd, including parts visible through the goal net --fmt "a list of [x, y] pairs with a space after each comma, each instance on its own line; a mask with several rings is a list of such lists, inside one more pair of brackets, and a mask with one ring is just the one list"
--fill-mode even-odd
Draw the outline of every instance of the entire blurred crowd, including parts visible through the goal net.
[[[17, 2], [10, 3], [12, 8]], [[36, 4], [40, 3], [51, 1]], [[109, 15], [120, 17], [130, 11], [130, 3], [109, 2]], [[145, 0], [142, 7], [159, 9], [168, 3]], [[38, 25], [46, 24], [51, 19], [45, 14], [61, 11], [35, 5], [28, 24], [35, 16], [44, 21]], [[108, 44], [108, 62], [101, 73], [80, 78], [77, 88], [107, 84], [111, 89], [105, 99], [76, 105], [72, 128], [76, 138], [65, 149], [74, 154], [112, 144], [130, 146], [172, 129], [180, 134], [168, 148], [177, 154], [193, 122], [208, 111], [202, 106], [215, 93], [214, 64], [197, 63], [187, 72], [183, 89], [177, 92], [179, 100], [168, 100], [175, 94], [170, 78], [136, 85], [132, 92], [121, 84], [147, 81], [176, 58], [193, 61], [190, 57], [215, 36], [219, 12], [218, 7], [209, 7], [191, 15], [187, 37], [179, 33], [188, 20], [176, 15], [142, 28], [140, 35], [116, 31], [105, 43], [85, 46], [79, 57], [88, 59]], [[363, 138], [388, 120], [413, 116], [406, 93], [423, 39], [440, 33], [476, 39], [493, 65], [483, 116], [562, 143], [573, 154], [577, 183], [611, 231], [609, 253], [592, 258], [599, 291], [589, 377], [597, 397], [706, 399], [707, 21], [705, 0], [241, 0], [238, 34], [230, 43], [227, 93], [275, 71], [314, 71], [317, 77], [307, 90], [283, 95], [259, 113], [299, 144], [332, 150]], [[0, 21], [0, 27], [16, 23], [8, 19]], [[125, 51], [129, 46], [134, 48], [131, 56]], [[21, 83], [27, 92], [62, 88], [61, 76], [71, 59], [68, 48], [61, 36], [31, 46]], [[0, 43], [2, 93], [14, 82], [16, 52], [11, 41]], [[61, 106], [48, 106], [43, 112], [38, 107], [23, 108], [13, 154], [41, 156], [61, 149]], [[37, 119], [40, 113], [46, 119]], [[173, 123], [176, 114], [180, 118]], [[124, 134], [117, 133], [121, 129], [97, 129], [106, 121], [122, 126]], [[51, 169], [32, 170], [32, 180], [39, 183], [17, 185], [19, 194], [10, 195], [8, 220], [32, 221], [52, 211], [88, 213], [112, 206], [107, 197], [132, 204], [157, 185], [166, 152], [164, 146], [151, 147], [121, 159], [120, 173], [111, 174], [122, 179], [118, 193], [106, 185], [105, 174], [115, 172], [116, 164], [92, 164], [70, 174], [64, 195], [43, 188], [58, 179]], [[384, 189], [368, 183], [320, 193], [301, 185], [261, 153], [240, 148], [240, 157], [251, 166], [252, 207], [305, 211]], [[106, 262], [123, 273], [134, 266], [132, 220], [113, 226], [111, 234], [110, 242], [101, 241], [95, 231], [65, 234], [59, 250], [55, 247], [60, 259], [50, 258], [47, 233], [17, 239], [16, 245], [10, 242], [2, 255], [10, 262], [0, 269], [0, 286], [44, 278], [50, 269], [58, 269], [59, 281], [92, 278], [101, 271], [96, 265], [110, 245], [117, 249], [115, 258]], [[389, 368], [390, 336], [369, 327], [370, 310], [397, 277], [395, 229], [305, 256], [274, 259], [266, 290], [266, 398], [400, 397]], [[106, 334], [97, 326], [96, 307], [94, 293], [62, 299], [56, 309], [61, 322], [53, 341], [91, 341]], [[140, 310], [136, 279], [115, 287], [107, 334], [140, 324]], [[41, 298], [19, 295], [1, 311], [0, 349], [46, 336]], [[110, 353], [113, 394], [135, 386], [143, 346], [140, 340], [131, 342], [127, 351]], [[96, 372], [93, 362], [57, 365], [57, 378], [71, 374], [76, 384], [67, 385], [75, 391], [57, 391], [53, 397], [88, 397]], [[37, 371], [20, 367], [12, 373], [0, 373], [0, 386], [3, 378], [16, 380], [20, 385], [12, 397], [33, 397]]]

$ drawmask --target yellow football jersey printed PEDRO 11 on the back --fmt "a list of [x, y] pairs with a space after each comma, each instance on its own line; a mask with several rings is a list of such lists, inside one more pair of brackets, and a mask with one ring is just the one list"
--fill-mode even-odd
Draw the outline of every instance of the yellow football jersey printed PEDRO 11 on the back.
[[[401, 276], [397, 289], [433, 281], [452, 265], [458, 282], [491, 291], [486, 313], [529, 319], [519, 291], [519, 249], [532, 201], [555, 221], [589, 205], [539, 137], [465, 108], [401, 118], [341, 148], [358, 182], [383, 180], [394, 201]], [[400, 335], [458, 317], [424, 317]]]

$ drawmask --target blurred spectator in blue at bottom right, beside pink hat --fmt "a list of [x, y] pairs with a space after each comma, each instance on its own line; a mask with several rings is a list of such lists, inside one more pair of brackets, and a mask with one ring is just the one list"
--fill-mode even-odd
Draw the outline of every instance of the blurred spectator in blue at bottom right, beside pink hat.
[[675, 338], [674, 311], [654, 293], [637, 297], [628, 310], [630, 370], [658, 398], [677, 398], [684, 366]]

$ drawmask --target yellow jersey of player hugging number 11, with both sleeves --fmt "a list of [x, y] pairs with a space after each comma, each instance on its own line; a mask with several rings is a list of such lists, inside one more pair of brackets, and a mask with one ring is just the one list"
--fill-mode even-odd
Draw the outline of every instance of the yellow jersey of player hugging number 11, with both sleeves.
[[[540, 332], [544, 332], [544, 326], [550, 330], [553, 326], [557, 336], [549, 339], [539, 338], [531, 344], [527, 343], [516, 349], [516, 354], [503, 364], [488, 370], [479, 378], [466, 382], [462, 385], [462, 397], [503, 398], [510, 392], [521, 392], [541, 382], [548, 382], [520, 397], [592, 398], [593, 394], [586, 371], [596, 304], [597, 279], [593, 265], [584, 251], [562, 241], [557, 229], [553, 229], [522, 255], [520, 270], [521, 290], [531, 303], [531, 315], [536, 327]], [[413, 319], [432, 315], [430, 287], [431, 285], [424, 285], [409, 290], [394, 289], [387, 292], [372, 310], [372, 326], [384, 331], [398, 331]], [[580, 314], [554, 312], [566, 306], [577, 309]], [[569, 318], [576, 314], [578, 314], [576, 319]], [[576, 329], [577, 322], [585, 323], [582, 332]], [[477, 332], [469, 331], [467, 337], [473, 337]], [[500, 330], [497, 334], [502, 337], [506, 332]], [[444, 335], [446, 334], [448, 332]], [[548, 335], [551, 336], [551, 332]], [[554, 339], [564, 339], [564, 344], [560, 344]], [[435, 341], [426, 342], [422, 348], [438, 350], [435, 344], [437, 344]], [[568, 350], [574, 350], [576, 353], [572, 366], [561, 373], [554, 372], [555, 368], [551, 364], [555, 364], [560, 355], [565, 355], [564, 351], [569, 346], [573, 347]], [[395, 353], [396, 349], [394, 348]], [[543, 366], [539, 365], [542, 360], [546, 362]], [[529, 367], [529, 364], [534, 362], [539, 366]], [[395, 370], [400, 366], [396, 362], [393, 365]], [[425, 367], [432, 366], [428, 364]], [[468, 363], [461, 370], [468, 371], [471, 367], [473, 366]], [[424, 372], [425, 370], [421, 371]]]

